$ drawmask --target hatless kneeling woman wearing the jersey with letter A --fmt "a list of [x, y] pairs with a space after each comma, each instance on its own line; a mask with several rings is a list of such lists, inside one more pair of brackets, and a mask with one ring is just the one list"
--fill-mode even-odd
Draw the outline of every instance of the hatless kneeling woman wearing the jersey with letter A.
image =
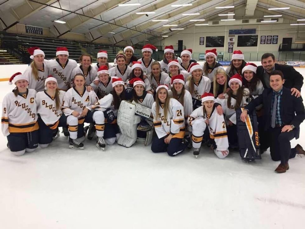
[[[69, 125], [69, 148], [83, 149], [81, 143], [84, 139], [84, 122], [95, 122], [96, 126], [96, 146], [105, 148], [102, 131], [104, 130], [103, 112], [88, 112], [88, 106], [97, 102], [96, 93], [88, 92], [85, 87], [85, 76], [76, 74], [74, 76], [75, 87], [70, 88], [63, 97], [63, 113], [67, 116]], [[82, 139], [79, 139], [82, 138]]]

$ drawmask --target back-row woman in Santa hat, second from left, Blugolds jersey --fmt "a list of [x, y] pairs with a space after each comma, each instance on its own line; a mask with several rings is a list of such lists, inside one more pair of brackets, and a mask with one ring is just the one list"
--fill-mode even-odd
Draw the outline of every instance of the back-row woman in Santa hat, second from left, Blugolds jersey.
[[68, 59], [69, 52], [66, 47], [56, 48], [56, 59], [48, 61], [48, 75], [52, 75], [58, 83], [60, 90], [67, 91], [71, 86], [71, 74], [77, 67], [75, 60]]

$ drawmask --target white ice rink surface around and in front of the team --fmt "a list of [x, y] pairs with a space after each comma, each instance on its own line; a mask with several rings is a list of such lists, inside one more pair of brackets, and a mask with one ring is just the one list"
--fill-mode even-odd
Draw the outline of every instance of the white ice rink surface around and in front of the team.
[[[296, 68], [305, 76], [305, 69]], [[0, 82], [0, 100], [13, 89]], [[305, 98], [305, 86], [302, 88]], [[305, 122], [300, 138], [305, 147]], [[269, 150], [247, 164], [238, 152], [218, 159], [202, 146], [175, 157], [150, 146], [68, 148], [63, 135], [21, 157], [0, 135], [0, 228], [304, 228], [305, 157], [279, 162]], [[18, 144], [16, 142], [16, 144]]]

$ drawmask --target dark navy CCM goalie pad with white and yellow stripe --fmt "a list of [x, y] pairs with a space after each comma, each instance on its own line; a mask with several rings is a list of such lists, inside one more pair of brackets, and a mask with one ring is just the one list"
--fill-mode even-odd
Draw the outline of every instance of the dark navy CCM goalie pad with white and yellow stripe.
[[242, 159], [255, 160], [261, 159], [260, 142], [258, 136], [258, 124], [256, 112], [248, 114], [246, 122], [242, 122], [240, 115], [244, 108], [236, 110], [236, 126], [239, 144], [239, 153]]

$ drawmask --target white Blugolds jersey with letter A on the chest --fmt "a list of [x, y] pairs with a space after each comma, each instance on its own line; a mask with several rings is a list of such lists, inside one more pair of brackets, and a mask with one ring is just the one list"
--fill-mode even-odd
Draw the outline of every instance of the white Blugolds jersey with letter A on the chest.
[[[89, 109], [88, 106], [96, 103], [97, 100], [96, 93], [92, 90], [88, 92], [86, 87], [84, 87], [82, 94], [79, 94], [74, 87], [70, 88], [63, 97], [63, 113], [66, 116], [71, 115], [73, 111], [82, 113], [86, 107]], [[82, 124], [84, 119], [84, 117], [78, 117], [78, 123]]]

